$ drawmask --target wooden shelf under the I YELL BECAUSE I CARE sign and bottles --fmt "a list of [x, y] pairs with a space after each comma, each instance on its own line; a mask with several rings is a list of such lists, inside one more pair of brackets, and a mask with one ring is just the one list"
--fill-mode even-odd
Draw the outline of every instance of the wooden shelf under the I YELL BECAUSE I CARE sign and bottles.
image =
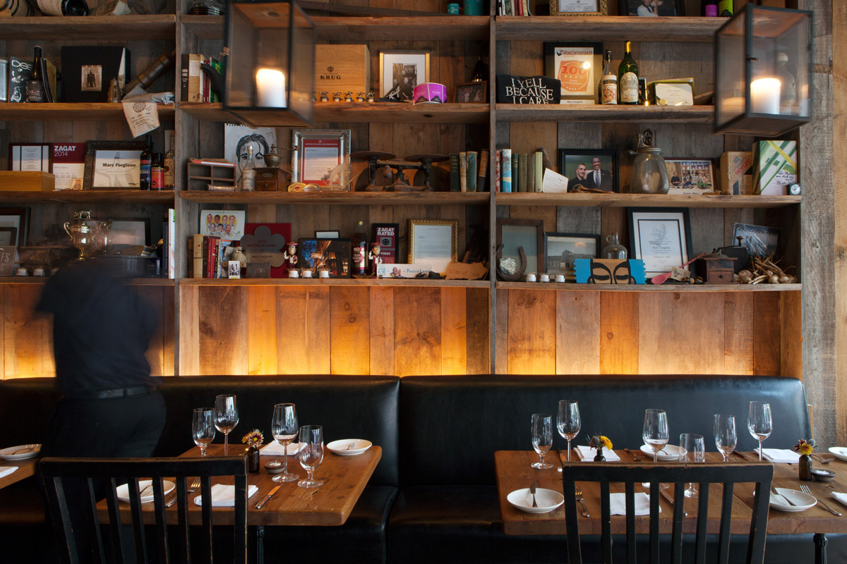
[[714, 106], [565, 106], [497, 104], [498, 121], [507, 122], [652, 122], [712, 123]]

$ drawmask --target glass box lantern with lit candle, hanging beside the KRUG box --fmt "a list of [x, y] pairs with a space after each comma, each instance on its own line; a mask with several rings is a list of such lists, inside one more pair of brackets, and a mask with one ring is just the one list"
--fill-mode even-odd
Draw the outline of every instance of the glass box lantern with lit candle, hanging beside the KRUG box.
[[253, 126], [311, 126], [315, 30], [293, 0], [230, 0], [224, 110]]

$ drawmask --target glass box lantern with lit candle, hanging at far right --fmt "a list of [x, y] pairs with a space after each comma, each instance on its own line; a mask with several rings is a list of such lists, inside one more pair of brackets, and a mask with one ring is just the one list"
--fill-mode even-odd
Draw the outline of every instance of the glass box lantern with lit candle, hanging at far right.
[[715, 35], [715, 132], [775, 137], [811, 121], [811, 12], [747, 4]]

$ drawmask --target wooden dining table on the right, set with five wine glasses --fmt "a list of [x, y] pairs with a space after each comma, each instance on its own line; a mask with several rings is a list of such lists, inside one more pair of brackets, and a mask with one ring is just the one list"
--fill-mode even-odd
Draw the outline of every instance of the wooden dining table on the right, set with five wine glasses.
[[[615, 451], [622, 463], [634, 463], [633, 457], [623, 451]], [[636, 456], [642, 453], [634, 451]], [[562, 461], [567, 461], [566, 452], [558, 452]], [[756, 452], [743, 453], [748, 459], [738, 454], [730, 455], [729, 463], [744, 464], [748, 460], [758, 460]], [[827, 455], [823, 452], [822, 456]], [[522, 512], [507, 501], [507, 496], [514, 490], [529, 488], [534, 481], [538, 487], [555, 490], [562, 494], [562, 474], [557, 471], [553, 457], [556, 453], [547, 454], [548, 462], [553, 462], [553, 468], [536, 470], [530, 464], [538, 461], [538, 455], [534, 451], [498, 451], [495, 452], [495, 471], [497, 476], [497, 493], [500, 498], [500, 512], [505, 534], [561, 534], [567, 532], [565, 525], [564, 506], [558, 507], [546, 513]], [[590, 462], [579, 462], [576, 451], [571, 455], [572, 463], [590, 464]], [[717, 452], [707, 452], [706, 462], [719, 463], [722, 456]], [[639, 463], [650, 463], [650, 457], [644, 455]], [[661, 461], [658, 463], [662, 464]], [[847, 463], [834, 460], [832, 463], [821, 464], [817, 461], [814, 468], [826, 468], [836, 473], [835, 479], [830, 482], [801, 481], [798, 477], [797, 464], [775, 463], [773, 474], [774, 488], [788, 488], [800, 490], [800, 485], [807, 485], [812, 496], [819, 501], [815, 507], [802, 512], [783, 512], [771, 507], [767, 518], [768, 534], [812, 534], [815, 541], [816, 561], [826, 561], [826, 534], [847, 533], [847, 507], [841, 505], [832, 497], [833, 491], [847, 493]], [[601, 506], [600, 506], [600, 484], [581, 484], [585, 505], [591, 517], [580, 517], [580, 534], [601, 534]], [[736, 484], [734, 486], [734, 503], [732, 512], [733, 534], [748, 534], [750, 532], [750, 517], [752, 516], [753, 484]], [[610, 486], [612, 492], [623, 492], [623, 484]], [[646, 490], [644, 490], [646, 491]], [[720, 522], [720, 510], [722, 500], [722, 485], [713, 484], [709, 490], [709, 521], [707, 531], [717, 533]], [[670, 533], [673, 527], [673, 486], [662, 490], [662, 499], [659, 501], [662, 512], [659, 515], [659, 530], [661, 533]], [[820, 501], [825, 502], [836, 512], [843, 513], [842, 516], [822, 507]], [[686, 498], [684, 511], [687, 513], [683, 522], [684, 533], [694, 533], [697, 514], [697, 498]], [[635, 529], [637, 533], [647, 534], [649, 532], [650, 516], [635, 517]], [[612, 516], [612, 534], [623, 534], [626, 532], [624, 516]]]

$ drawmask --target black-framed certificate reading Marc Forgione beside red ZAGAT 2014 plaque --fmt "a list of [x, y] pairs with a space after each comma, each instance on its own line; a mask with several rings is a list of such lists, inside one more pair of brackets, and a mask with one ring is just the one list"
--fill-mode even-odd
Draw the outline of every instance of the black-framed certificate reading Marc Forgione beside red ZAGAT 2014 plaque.
[[88, 141], [84, 190], [139, 189], [144, 141]]

